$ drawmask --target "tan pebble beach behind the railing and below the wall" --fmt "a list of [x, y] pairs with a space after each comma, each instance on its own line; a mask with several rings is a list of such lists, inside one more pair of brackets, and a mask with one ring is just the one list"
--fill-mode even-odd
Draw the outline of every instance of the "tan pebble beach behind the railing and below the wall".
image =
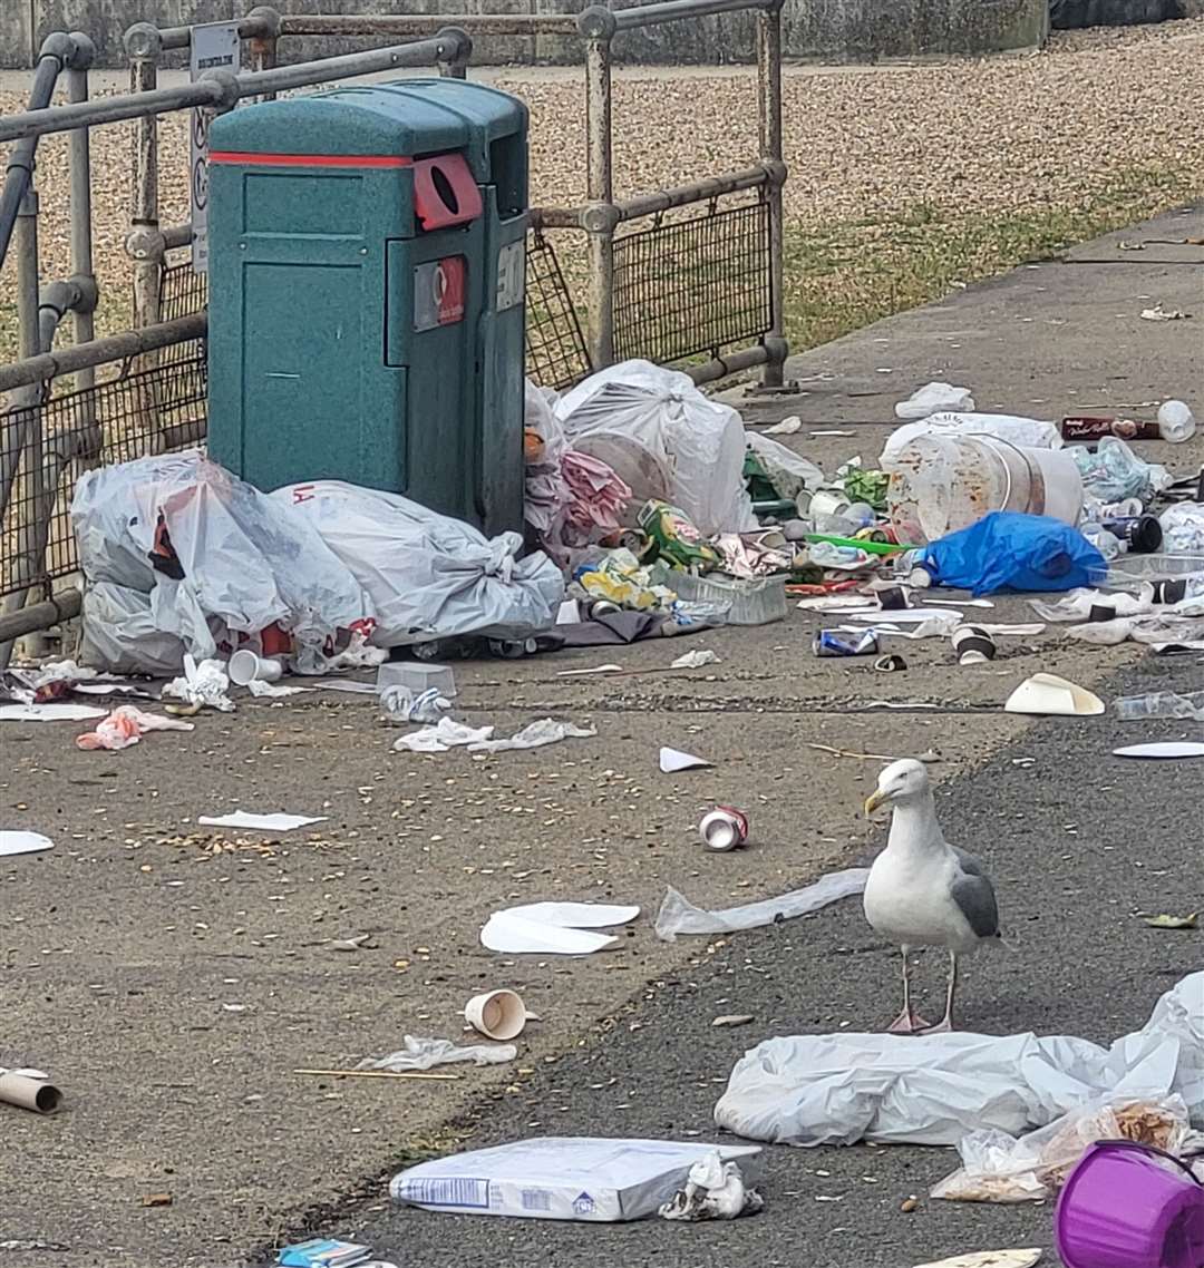
[[[891, 218], [924, 207], [943, 216], [1012, 214], [1090, 205], [1137, 171], [1204, 170], [1204, 18], [1129, 30], [1056, 36], [1029, 57], [888, 67], [794, 67], [785, 80], [788, 210], [804, 231]], [[584, 197], [584, 108], [575, 74], [502, 72], [532, 107], [533, 198]], [[756, 150], [751, 71], [638, 70], [615, 89], [620, 195], [747, 165]], [[20, 109], [0, 93], [0, 113]], [[689, 128], [681, 120], [694, 119]], [[162, 223], [186, 216], [183, 114], [161, 128]], [[123, 249], [129, 129], [93, 131], [99, 325], [128, 308]], [[39, 150], [43, 273], [67, 271], [66, 143]], [[1180, 190], [1179, 193], [1190, 191]], [[1168, 198], [1167, 203], [1175, 202]], [[0, 276], [0, 308], [13, 270]]]

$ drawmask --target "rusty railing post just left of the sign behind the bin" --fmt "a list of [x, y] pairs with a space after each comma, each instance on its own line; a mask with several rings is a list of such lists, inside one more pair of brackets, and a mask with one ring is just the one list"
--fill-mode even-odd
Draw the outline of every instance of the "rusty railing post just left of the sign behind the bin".
[[[148, 22], [126, 32], [129, 91], [148, 93], [159, 86], [162, 39]], [[140, 115], [133, 129], [133, 202], [127, 250], [133, 256], [133, 323], [155, 326], [162, 297], [162, 233], [159, 231], [159, 115]]]

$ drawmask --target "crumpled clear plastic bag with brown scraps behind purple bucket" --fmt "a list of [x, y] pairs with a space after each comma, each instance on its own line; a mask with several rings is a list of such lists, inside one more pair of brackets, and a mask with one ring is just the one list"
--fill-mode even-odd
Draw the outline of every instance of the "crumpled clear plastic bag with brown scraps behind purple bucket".
[[1189, 1131], [1180, 1097], [1095, 1098], [1019, 1139], [997, 1129], [967, 1132], [958, 1141], [962, 1165], [935, 1184], [931, 1196], [952, 1202], [1040, 1202], [1057, 1197], [1096, 1140], [1132, 1140], [1177, 1153]]

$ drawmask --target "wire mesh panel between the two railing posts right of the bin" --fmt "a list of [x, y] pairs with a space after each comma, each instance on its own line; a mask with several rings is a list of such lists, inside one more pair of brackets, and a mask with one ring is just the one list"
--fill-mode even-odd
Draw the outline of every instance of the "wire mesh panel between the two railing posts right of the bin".
[[769, 204], [721, 208], [614, 243], [614, 353], [667, 364], [718, 356], [773, 328]]

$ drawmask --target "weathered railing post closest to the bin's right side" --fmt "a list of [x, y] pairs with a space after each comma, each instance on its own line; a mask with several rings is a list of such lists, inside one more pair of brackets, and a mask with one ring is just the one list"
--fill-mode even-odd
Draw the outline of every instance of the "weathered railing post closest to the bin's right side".
[[614, 14], [598, 5], [577, 19], [585, 39], [586, 197], [582, 226], [590, 235], [590, 359], [600, 370], [614, 363], [614, 169], [612, 162], [610, 42]]

